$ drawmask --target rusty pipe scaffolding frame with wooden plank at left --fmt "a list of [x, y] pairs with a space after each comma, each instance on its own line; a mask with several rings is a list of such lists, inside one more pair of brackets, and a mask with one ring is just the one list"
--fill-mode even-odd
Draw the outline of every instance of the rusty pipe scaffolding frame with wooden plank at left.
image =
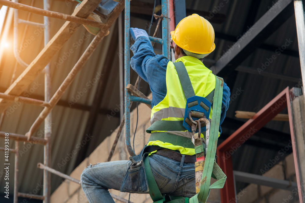
[[[5, 110], [10, 106], [13, 101], [20, 101], [23, 103], [28, 103], [32, 105], [37, 105], [44, 107], [41, 114], [38, 116], [36, 121], [30, 128], [30, 131], [26, 135], [20, 135], [16, 133], [9, 133], [9, 138], [15, 141], [15, 149], [9, 149], [9, 152], [15, 154], [15, 168], [14, 168], [14, 203], [18, 202], [18, 197], [31, 197], [34, 199], [43, 200], [44, 203], [50, 202], [50, 193], [51, 193], [51, 173], [54, 173], [60, 177], [63, 177], [67, 180], [74, 181], [80, 184], [79, 180], [76, 180], [66, 174], [63, 174], [57, 170], [52, 169], [51, 166], [51, 121], [52, 116], [50, 114], [53, 107], [55, 107], [56, 103], [59, 101], [65, 90], [70, 86], [72, 81], [75, 79], [77, 73], [84, 66], [86, 61], [90, 58], [92, 53], [95, 51], [95, 48], [102, 41], [103, 37], [109, 30], [109, 28], [113, 25], [115, 20], [118, 18], [119, 14], [124, 9], [124, 1], [120, 1], [118, 5], [115, 7], [111, 15], [108, 17], [106, 23], [99, 23], [96, 21], [86, 19], [91, 12], [98, 6], [100, 0], [84, 0], [80, 6], [78, 6], [72, 15], [66, 15], [58, 12], [49, 11], [49, 0], [44, 0], [44, 9], [38, 9], [32, 6], [23, 5], [17, 2], [11, 2], [8, 0], [0, 0], [1, 5], [6, 5], [10, 8], [14, 8], [14, 33], [17, 33], [18, 23], [26, 23], [27, 25], [34, 26], [43, 26], [44, 27], [44, 45], [45, 47], [38, 54], [38, 56], [27, 65], [14, 49], [14, 55], [16, 61], [26, 67], [23, 73], [11, 84], [11, 86], [5, 91], [5, 93], [0, 93], [0, 112], [2, 113], [2, 118]], [[44, 16], [44, 23], [33, 23], [27, 20], [18, 19], [18, 10], [27, 11], [30, 13], [36, 13]], [[49, 22], [48, 18], [57, 18], [66, 20], [66, 23], [60, 28], [60, 30], [55, 34], [55, 36], [49, 40]], [[57, 89], [56, 93], [51, 98], [51, 77], [50, 77], [50, 67], [49, 61], [52, 57], [59, 51], [63, 44], [69, 40], [72, 34], [77, 30], [77, 28], [81, 25], [91, 25], [95, 27], [101, 28], [99, 33], [94, 37], [91, 41], [87, 49], [81, 55], [81, 58], [74, 65], [70, 73], [67, 75], [65, 80]], [[17, 37], [15, 35], [14, 39], [14, 48], [17, 47]], [[44, 68], [45, 67], [45, 68]], [[18, 96], [20, 95], [28, 85], [36, 78], [36, 76], [45, 69], [45, 101], [36, 100], [27, 97]], [[33, 133], [39, 128], [41, 123], [45, 121], [45, 137], [37, 138], [32, 137]], [[2, 122], [2, 119], [1, 121]], [[4, 138], [6, 132], [0, 131], [0, 137]], [[44, 170], [43, 175], [43, 195], [33, 195], [33, 194], [24, 194], [18, 192], [18, 163], [19, 163], [19, 142], [31, 142], [34, 144], [42, 144], [44, 145], [44, 164], [38, 163], [38, 168]], [[4, 151], [4, 148], [0, 148], [0, 151]], [[117, 195], [111, 194], [111, 196], [119, 201], [128, 202], [128, 200], [121, 198]]]

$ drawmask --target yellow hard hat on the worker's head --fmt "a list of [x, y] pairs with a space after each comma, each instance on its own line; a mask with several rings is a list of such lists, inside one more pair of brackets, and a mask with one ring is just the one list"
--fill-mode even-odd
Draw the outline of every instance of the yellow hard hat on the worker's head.
[[186, 51], [209, 54], [215, 49], [213, 26], [198, 14], [182, 19], [170, 34], [177, 46]]

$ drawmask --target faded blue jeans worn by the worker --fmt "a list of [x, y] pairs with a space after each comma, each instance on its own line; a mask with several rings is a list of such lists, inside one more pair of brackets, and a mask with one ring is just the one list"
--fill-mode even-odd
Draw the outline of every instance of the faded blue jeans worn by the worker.
[[[192, 197], [195, 189], [194, 163], [184, 163], [153, 153], [149, 156], [152, 174], [162, 194]], [[81, 187], [90, 203], [114, 202], [108, 189], [148, 193], [144, 170], [130, 169], [132, 162], [112, 161], [90, 165], [81, 174]], [[127, 171], [129, 170], [129, 173]], [[129, 181], [126, 175], [129, 176]], [[125, 177], [125, 178], [124, 178]]]

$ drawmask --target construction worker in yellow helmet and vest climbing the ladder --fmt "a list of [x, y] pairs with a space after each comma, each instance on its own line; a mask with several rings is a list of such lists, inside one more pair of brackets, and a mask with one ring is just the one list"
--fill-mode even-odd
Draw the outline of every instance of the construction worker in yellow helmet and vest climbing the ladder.
[[[182, 120], [186, 99], [174, 64], [164, 55], [156, 55], [145, 30], [130, 29], [135, 43], [131, 47], [134, 56], [131, 67], [149, 83], [152, 92], [152, 126], [160, 120]], [[214, 49], [214, 30], [203, 17], [193, 14], [180, 21], [171, 32], [176, 62], [182, 61], [196, 96], [206, 97], [215, 89], [215, 75], [203, 65], [203, 58]], [[220, 124], [224, 121], [229, 105], [230, 90], [223, 84]], [[157, 147], [149, 153], [149, 165], [157, 187], [162, 194], [192, 197], [195, 192], [196, 156], [194, 145], [189, 142], [174, 145], [166, 138], [176, 136], [191, 140], [188, 131], [166, 131], [156, 138], [152, 131], [147, 146], [128, 161], [112, 161], [88, 166], [81, 174], [81, 186], [89, 202], [114, 202], [108, 189], [129, 193], [148, 193], [147, 178], [143, 167], [143, 154], [149, 147]], [[219, 126], [219, 134], [221, 127]], [[201, 135], [203, 136], [203, 135]], [[154, 137], [154, 138], [152, 138]], [[152, 139], [151, 139], [152, 138]], [[164, 139], [164, 140], [163, 140]], [[162, 148], [162, 149], [160, 149]], [[146, 151], [145, 151], [146, 150]], [[184, 201], [183, 201], [184, 202]]]

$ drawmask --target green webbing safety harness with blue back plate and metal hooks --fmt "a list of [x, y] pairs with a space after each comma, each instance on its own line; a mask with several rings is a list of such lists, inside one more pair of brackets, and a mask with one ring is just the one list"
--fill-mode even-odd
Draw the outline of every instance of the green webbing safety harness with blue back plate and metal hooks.
[[[202, 179], [199, 192], [193, 196], [192, 198], [185, 197], [174, 197], [174, 196], [166, 196], [161, 194], [156, 181], [153, 177], [152, 170], [149, 164], [149, 156], [145, 156], [144, 166], [145, 173], [149, 186], [149, 194], [154, 203], [181, 203], [181, 199], [185, 199], [185, 203], [205, 203], [210, 189], [219, 189], [223, 188], [226, 175], [222, 172], [221, 168], [217, 165], [215, 160], [216, 155], [216, 146], [218, 140], [218, 131], [220, 125], [220, 115], [221, 115], [221, 104], [222, 104], [222, 91], [223, 91], [223, 79], [216, 76], [216, 86], [215, 89], [205, 98], [196, 96], [194, 89], [192, 87], [191, 80], [186, 71], [185, 65], [183, 62], [176, 62], [174, 66], [177, 70], [178, 77], [187, 100], [186, 108], [185, 108], [185, 117], [183, 121], [156, 121], [154, 122], [147, 130], [147, 133], [151, 133], [151, 131], [185, 131], [188, 130], [193, 132], [193, 135], [196, 132], [206, 131], [205, 125], [200, 127], [201, 129], [196, 129], [196, 127], [192, 129], [192, 121], [197, 120], [202, 117], [209, 117], [211, 104], [213, 103], [212, 109], [212, 121], [210, 126], [210, 136], [209, 136], [209, 144], [207, 145], [207, 149], [204, 150], [202, 144], [194, 146], [191, 138], [182, 137], [179, 135], [168, 134], [166, 132], [154, 132], [150, 135], [149, 141], [162, 141], [168, 142], [173, 145], [179, 145], [186, 148], [195, 148], [196, 157], [197, 154], [205, 154], [205, 161], [203, 161], [203, 171], [202, 171]], [[199, 119], [200, 120], [200, 119]], [[198, 121], [197, 121], [198, 122]], [[199, 122], [200, 126], [200, 122]], [[200, 135], [199, 135], [200, 138]], [[206, 140], [206, 138], [205, 138]], [[207, 143], [207, 141], [206, 141]], [[155, 146], [156, 149], [159, 149]], [[163, 149], [160, 147], [160, 149]], [[205, 151], [205, 152], [204, 152]], [[196, 162], [197, 163], [197, 162]], [[215, 178], [217, 181], [210, 185], [211, 177]]]

